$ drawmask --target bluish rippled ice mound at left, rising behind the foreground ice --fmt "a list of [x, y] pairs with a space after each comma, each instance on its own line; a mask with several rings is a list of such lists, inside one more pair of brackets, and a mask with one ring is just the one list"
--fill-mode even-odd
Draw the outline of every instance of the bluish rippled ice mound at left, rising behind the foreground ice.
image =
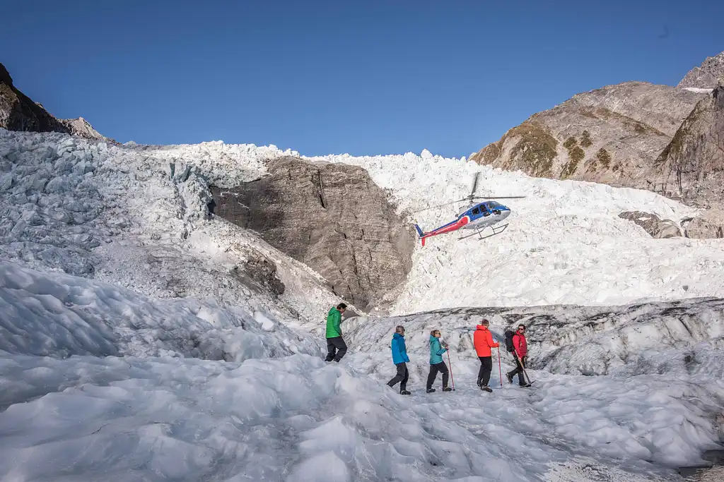
[[321, 353], [262, 309], [157, 300], [108, 283], [0, 263], [0, 350], [34, 356], [246, 358]]

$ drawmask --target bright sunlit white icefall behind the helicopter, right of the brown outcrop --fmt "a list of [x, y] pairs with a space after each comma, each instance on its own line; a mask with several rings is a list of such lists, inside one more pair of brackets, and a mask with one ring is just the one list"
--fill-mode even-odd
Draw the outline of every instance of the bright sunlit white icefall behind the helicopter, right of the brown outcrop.
[[724, 295], [722, 240], [654, 239], [618, 218], [639, 210], [679, 223], [694, 212], [649, 191], [531, 178], [429, 152], [313, 159], [363, 166], [426, 230], [453, 219], [457, 210], [424, 209], [466, 197], [475, 171], [481, 172], [481, 196], [526, 196], [503, 200], [513, 214], [499, 236], [458, 241], [452, 233], [418, 246], [408, 283], [395, 293], [395, 314]]

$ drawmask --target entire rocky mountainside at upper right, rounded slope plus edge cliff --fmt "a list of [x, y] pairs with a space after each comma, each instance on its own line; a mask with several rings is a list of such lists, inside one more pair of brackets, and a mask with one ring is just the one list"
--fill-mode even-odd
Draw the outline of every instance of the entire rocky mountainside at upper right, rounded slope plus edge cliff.
[[[707, 211], [683, 225], [722, 237], [724, 52], [677, 87], [624, 82], [536, 113], [471, 160], [531, 176], [650, 189]], [[658, 236], [658, 235], [657, 235]]]

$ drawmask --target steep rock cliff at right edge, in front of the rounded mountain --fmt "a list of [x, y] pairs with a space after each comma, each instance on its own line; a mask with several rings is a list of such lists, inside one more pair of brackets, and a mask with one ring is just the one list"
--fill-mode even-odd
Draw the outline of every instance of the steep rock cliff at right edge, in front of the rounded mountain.
[[647, 178], [655, 190], [708, 210], [689, 226], [692, 238], [721, 238], [724, 215], [724, 86], [707, 94], [684, 119]]

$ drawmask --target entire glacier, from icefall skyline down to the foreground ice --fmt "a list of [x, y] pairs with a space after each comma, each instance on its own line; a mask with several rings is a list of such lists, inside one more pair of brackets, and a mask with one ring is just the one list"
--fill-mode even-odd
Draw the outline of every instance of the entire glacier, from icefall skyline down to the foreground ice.
[[[341, 300], [207, 208], [209, 184], [282, 155], [0, 129], [0, 481], [681, 481], [722, 449], [724, 244], [618, 218], [694, 210], [429, 152], [307, 158], [361, 165], [425, 227], [476, 171], [481, 194], [528, 196], [492, 241], [416, 246], [391, 309], [346, 319], [348, 355], [325, 363]], [[284, 293], [245, 279], [256, 256]], [[477, 389], [482, 317], [498, 340], [529, 326], [533, 387], [501, 384], [494, 352]], [[396, 324], [410, 397], [385, 384]], [[424, 392], [433, 329], [455, 392]]]

